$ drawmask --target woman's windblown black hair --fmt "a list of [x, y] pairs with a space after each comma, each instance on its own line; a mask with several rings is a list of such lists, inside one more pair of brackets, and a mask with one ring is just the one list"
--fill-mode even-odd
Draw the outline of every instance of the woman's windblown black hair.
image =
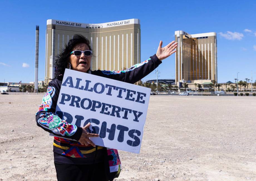
[[55, 78], [62, 79], [65, 68], [68, 66], [69, 58], [70, 58], [70, 52], [73, 51], [73, 48], [80, 43], [85, 43], [90, 50], [90, 41], [85, 38], [83, 35], [75, 34], [73, 35], [73, 39], [68, 41], [68, 44], [65, 45], [65, 48], [62, 50], [62, 52], [56, 56], [55, 60]]

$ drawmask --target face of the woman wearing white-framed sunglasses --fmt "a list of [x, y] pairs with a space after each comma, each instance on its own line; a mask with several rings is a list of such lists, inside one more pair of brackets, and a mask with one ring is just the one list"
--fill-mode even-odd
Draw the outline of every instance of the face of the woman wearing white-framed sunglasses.
[[[88, 45], [85, 43], [77, 44], [73, 50], [90, 50]], [[77, 70], [79, 72], [87, 72], [90, 69], [92, 55], [85, 56], [82, 53], [80, 56], [76, 56], [73, 53], [70, 55], [70, 64], [72, 70]]]

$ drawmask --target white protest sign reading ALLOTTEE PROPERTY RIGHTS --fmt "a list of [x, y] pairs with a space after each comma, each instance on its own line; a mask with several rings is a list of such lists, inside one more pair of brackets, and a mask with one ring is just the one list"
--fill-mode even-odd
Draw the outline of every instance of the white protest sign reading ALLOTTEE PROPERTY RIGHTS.
[[70, 69], [65, 70], [56, 114], [88, 132], [98, 146], [134, 153], [141, 148], [150, 89]]

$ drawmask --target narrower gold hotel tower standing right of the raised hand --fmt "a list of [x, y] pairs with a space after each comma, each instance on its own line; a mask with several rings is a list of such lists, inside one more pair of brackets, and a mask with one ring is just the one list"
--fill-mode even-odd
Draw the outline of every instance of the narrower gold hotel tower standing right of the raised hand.
[[178, 86], [184, 81], [218, 82], [215, 32], [190, 35], [175, 31], [175, 41], [178, 42], [175, 54], [175, 82]]

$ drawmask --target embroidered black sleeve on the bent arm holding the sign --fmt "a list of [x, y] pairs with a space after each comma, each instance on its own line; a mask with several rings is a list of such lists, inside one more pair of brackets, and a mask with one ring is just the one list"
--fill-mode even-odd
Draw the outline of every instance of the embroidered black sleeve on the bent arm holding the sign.
[[58, 101], [60, 85], [58, 81], [51, 81], [47, 92], [43, 96], [43, 101], [36, 113], [36, 123], [45, 131], [65, 138], [79, 140], [82, 134], [82, 128], [74, 124], [69, 124], [55, 115], [55, 108]]

